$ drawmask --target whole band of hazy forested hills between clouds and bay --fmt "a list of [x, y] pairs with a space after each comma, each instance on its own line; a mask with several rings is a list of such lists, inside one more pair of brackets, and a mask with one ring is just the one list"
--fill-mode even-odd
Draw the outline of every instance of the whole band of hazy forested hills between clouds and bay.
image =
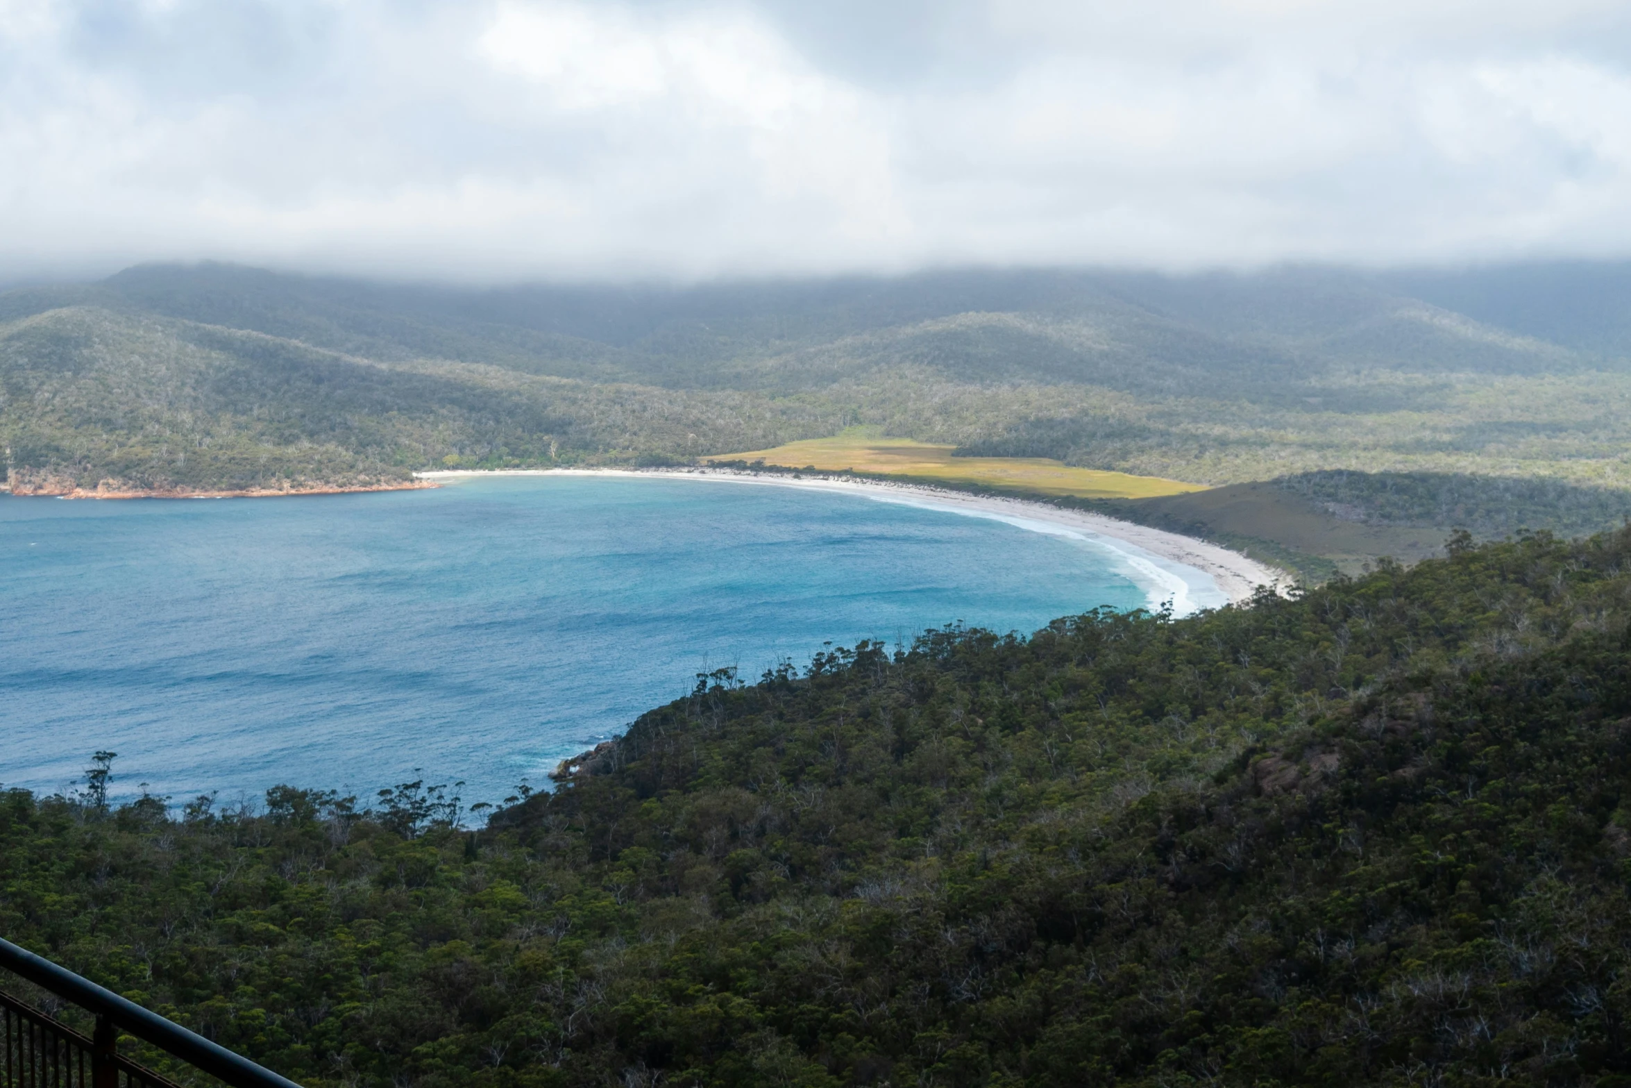
[[848, 426], [1212, 484], [1624, 489], [1628, 292], [1616, 264], [504, 289], [144, 266], [0, 294], [0, 444], [18, 493], [667, 463]]

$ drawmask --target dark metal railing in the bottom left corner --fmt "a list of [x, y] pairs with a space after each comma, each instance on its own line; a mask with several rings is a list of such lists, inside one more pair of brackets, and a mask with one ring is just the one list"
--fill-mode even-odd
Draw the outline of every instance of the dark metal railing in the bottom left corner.
[[121, 1031], [173, 1054], [230, 1088], [300, 1088], [287, 1077], [3, 938], [0, 967], [96, 1016], [96, 1031], [86, 1037], [15, 997], [0, 993], [0, 1033], [5, 1046], [0, 1088], [176, 1088], [173, 1081], [119, 1054]]

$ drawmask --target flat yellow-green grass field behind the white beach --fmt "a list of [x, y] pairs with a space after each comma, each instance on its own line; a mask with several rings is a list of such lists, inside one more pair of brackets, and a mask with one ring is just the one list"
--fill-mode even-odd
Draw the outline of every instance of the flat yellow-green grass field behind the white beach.
[[718, 453], [709, 462], [757, 462], [783, 468], [817, 468], [922, 480], [925, 483], [972, 483], [1039, 494], [1072, 494], [1083, 499], [1151, 499], [1163, 494], [1205, 491], [1204, 484], [1130, 476], [1094, 468], [1072, 468], [1045, 457], [953, 457], [953, 445], [886, 439], [876, 431], [851, 427], [832, 439], [788, 442], [773, 450]]

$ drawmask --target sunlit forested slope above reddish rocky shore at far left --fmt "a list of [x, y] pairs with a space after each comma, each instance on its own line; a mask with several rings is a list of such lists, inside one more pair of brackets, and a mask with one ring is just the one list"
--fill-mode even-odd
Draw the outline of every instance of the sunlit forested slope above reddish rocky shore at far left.
[[840, 416], [752, 393], [378, 362], [261, 333], [47, 310], [0, 328], [13, 488], [359, 486], [445, 465], [695, 457]]

